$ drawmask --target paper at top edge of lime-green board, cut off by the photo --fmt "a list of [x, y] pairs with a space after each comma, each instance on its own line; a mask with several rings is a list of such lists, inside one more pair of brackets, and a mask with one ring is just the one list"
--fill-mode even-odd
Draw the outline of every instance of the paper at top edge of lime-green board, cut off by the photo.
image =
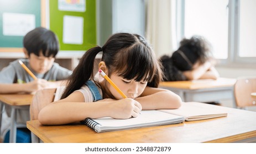
[[85, 12], [86, 0], [58, 0], [58, 9], [70, 12]]

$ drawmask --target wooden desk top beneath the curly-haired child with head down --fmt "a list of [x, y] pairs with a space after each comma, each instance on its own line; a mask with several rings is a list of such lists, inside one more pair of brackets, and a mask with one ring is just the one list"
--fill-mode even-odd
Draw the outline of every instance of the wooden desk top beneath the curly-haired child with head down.
[[159, 84], [160, 87], [173, 87], [178, 89], [207, 89], [215, 87], [232, 87], [236, 83], [236, 79], [231, 78], [218, 78], [212, 79], [200, 79], [191, 81], [165, 81]]

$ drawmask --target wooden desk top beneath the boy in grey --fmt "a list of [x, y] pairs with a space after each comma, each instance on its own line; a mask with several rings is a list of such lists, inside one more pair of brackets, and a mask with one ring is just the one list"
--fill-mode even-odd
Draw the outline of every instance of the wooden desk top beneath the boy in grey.
[[0, 94], [0, 101], [11, 106], [26, 106], [32, 102], [32, 94]]

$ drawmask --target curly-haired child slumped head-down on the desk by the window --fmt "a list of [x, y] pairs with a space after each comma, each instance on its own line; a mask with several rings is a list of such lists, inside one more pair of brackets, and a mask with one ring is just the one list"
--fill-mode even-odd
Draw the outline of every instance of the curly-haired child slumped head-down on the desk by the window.
[[171, 56], [160, 57], [160, 61], [164, 81], [217, 79], [220, 76], [215, 69], [211, 45], [202, 36], [184, 38], [177, 51]]

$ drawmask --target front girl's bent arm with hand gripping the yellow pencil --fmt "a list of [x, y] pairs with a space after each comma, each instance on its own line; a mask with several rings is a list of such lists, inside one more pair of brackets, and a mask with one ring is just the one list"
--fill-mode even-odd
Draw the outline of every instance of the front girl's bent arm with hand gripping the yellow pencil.
[[108, 98], [96, 102], [85, 102], [82, 93], [75, 91], [66, 98], [49, 103], [41, 109], [38, 119], [41, 124], [45, 125], [74, 123], [88, 117], [127, 119], [137, 117], [141, 108], [139, 102], [132, 98], [121, 100]]

